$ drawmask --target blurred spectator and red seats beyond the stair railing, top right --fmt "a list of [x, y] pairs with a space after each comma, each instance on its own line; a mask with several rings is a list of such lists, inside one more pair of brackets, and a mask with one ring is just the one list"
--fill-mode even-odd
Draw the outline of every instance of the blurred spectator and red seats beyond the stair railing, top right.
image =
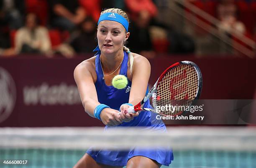
[[217, 18], [218, 30], [234, 41], [245, 36], [256, 42], [256, 0], [189, 0], [193, 5]]

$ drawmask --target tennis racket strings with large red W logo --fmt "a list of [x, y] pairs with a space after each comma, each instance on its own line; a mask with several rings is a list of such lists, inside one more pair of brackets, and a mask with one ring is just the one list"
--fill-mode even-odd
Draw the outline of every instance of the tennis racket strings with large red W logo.
[[[198, 74], [196, 69], [187, 64], [181, 64], [170, 69], [158, 84], [156, 97], [157, 106], [190, 106], [198, 92]], [[164, 115], [177, 115], [183, 109], [162, 111]]]

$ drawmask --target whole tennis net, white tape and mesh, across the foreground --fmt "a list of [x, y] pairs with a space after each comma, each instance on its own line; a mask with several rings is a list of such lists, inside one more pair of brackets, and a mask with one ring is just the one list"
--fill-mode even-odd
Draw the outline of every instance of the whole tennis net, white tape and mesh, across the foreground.
[[[256, 129], [172, 127], [167, 133], [140, 129], [0, 128], [0, 167], [70, 168], [90, 146], [112, 150], [172, 146], [169, 168], [256, 168]], [[160, 143], [161, 142], [161, 143]], [[3, 161], [27, 160], [10, 165]], [[167, 168], [162, 166], [162, 168]]]

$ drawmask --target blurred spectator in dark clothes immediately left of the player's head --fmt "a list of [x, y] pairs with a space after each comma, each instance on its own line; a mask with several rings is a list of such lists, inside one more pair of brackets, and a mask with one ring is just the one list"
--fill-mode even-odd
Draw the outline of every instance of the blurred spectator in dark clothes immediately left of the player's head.
[[91, 53], [97, 46], [96, 23], [87, 17], [79, 26], [79, 30], [71, 34], [70, 44], [77, 53]]

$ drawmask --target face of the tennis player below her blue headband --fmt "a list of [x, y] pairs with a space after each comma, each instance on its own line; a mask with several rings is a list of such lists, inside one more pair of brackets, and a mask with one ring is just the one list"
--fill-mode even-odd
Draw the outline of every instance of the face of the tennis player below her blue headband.
[[114, 54], [123, 50], [123, 42], [128, 38], [125, 28], [118, 22], [104, 20], [100, 22], [97, 30], [97, 39], [100, 51], [103, 54]]

